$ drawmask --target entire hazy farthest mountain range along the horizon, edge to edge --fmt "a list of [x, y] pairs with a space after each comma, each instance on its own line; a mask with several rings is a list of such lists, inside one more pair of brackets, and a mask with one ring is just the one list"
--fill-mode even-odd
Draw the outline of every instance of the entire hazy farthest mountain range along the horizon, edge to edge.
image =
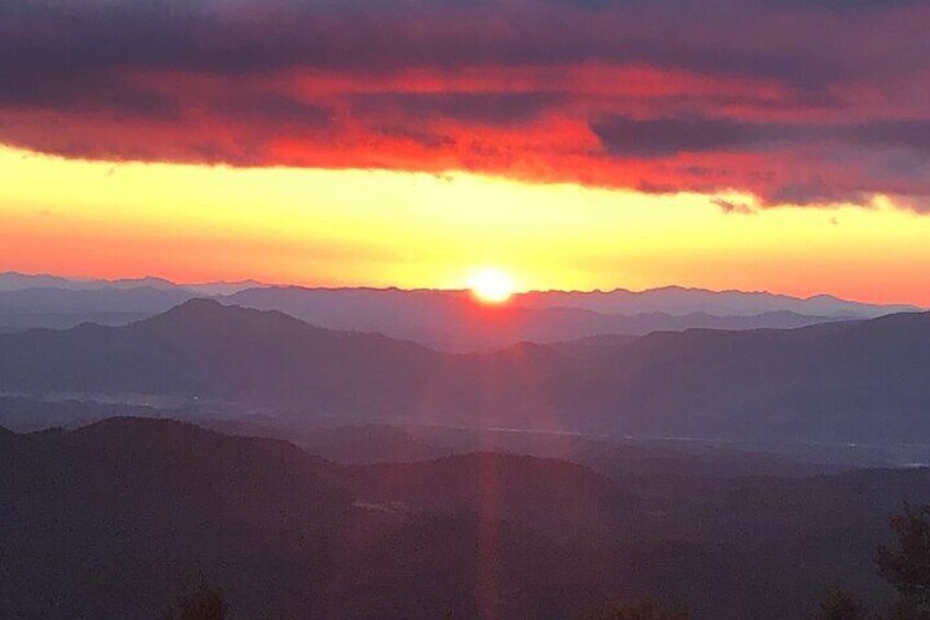
[[253, 281], [178, 285], [158, 278], [68, 280], [9, 272], [0, 274], [0, 332], [81, 323], [126, 325], [204, 296], [227, 305], [282, 311], [317, 327], [377, 332], [451, 352], [694, 327], [802, 327], [919, 309], [826, 295], [802, 300], [674, 286], [638, 293], [531, 292], [494, 306], [477, 303], [465, 291], [307, 289]]

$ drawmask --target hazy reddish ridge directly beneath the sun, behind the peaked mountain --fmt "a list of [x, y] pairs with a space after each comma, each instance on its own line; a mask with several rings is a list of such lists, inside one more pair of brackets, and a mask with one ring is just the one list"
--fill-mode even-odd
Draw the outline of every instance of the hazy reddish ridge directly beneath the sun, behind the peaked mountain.
[[[564, 306], [542, 307], [541, 300], [549, 297], [559, 300], [554, 302], [557, 304], [565, 302]], [[571, 298], [571, 294], [557, 292], [530, 293], [518, 295], [502, 306], [486, 306], [476, 303], [470, 294], [456, 291], [288, 286], [250, 289], [220, 301], [282, 311], [319, 327], [375, 331], [458, 352], [490, 350], [524, 340], [548, 343], [589, 336], [639, 336], [693, 327], [787, 328], [837, 320], [832, 315], [813, 316], [789, 311], [745, 316], [714, 316], [705, 312], [602, 314], [572, 307]], [[529, 306], [541, 307], [529, 307], [524, 301]]]

